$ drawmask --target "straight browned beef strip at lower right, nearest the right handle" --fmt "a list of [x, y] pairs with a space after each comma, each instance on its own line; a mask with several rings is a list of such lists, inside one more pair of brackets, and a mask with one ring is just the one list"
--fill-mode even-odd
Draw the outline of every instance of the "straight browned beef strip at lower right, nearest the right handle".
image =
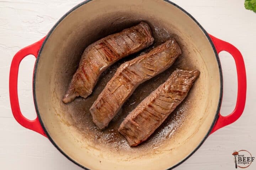
[[124, 119], [118, 131], [130, 146], [137, 146], [153, 134], [187, 96], [198, 70], [177, 69]]

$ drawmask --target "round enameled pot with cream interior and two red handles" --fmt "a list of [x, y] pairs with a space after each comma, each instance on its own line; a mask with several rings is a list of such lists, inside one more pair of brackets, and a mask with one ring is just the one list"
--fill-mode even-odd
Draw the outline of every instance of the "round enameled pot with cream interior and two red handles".
[[[134, 56], [108, 69], [89, 98], [78, 98], [70, 104], [61, 99], [86, 46], [142, 20], [149, 23], [156, 44], [172, 36], [180, 44], [182, 55], [170, 69], [139, 86], [108, 129], [97, 131], [88, 109], [118, 64]], [[220, 51], [228, 51], [234, 57], [238, 75], [236, 107], [225, 117], [219, 114], [223, 94]], [[37, 58], [33, 77], [37, 118], [32, 121], [21, 114], [17, 95], [19, 64], [30, 54]], [[147, 142], [130, 148], [118, 134], [118, 125], [175, 68], [196, 68], [201, 74], [186, 100], [164, 125]], [[84, 1], [66, 13], [46, 37], [18, 51], [10, 70], [10, 101], [15, 119], [25, 128], [48, 137], [65, 157], [84, 169], [174, 168], [212, 132], [236, 121], [244, 110], [245, 98], [245, 65], [238, 49], [209, 35], [189, 13], [164, 0]]]

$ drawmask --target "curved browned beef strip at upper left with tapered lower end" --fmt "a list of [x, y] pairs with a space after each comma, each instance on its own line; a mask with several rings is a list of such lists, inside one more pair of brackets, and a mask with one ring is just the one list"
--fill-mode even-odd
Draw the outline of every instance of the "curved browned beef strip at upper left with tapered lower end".
[[154, 38], [147, 23], [124, 29], [89, 45], [80, 60], [69, 89], [62, 101], [68, 103], [77, 96], [86, 98], [92, 93], [101, 73], [119, 59], [138, 52], [151, 44]]

